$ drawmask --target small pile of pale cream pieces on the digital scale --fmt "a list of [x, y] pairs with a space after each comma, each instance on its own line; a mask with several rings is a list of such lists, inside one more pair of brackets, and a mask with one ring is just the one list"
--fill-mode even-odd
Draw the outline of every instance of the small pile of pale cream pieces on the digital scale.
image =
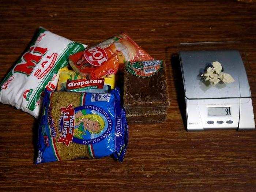
[[233, 83], [235, 81], [230, 74], [221, 72], [222, 65], [219, 61], [212, 62], [212, 66], [213, 67], [208, 67], [206, 72], [201, 75], [205, 81], [209, 81], [213, 86], [221, 81], [223, 83]]

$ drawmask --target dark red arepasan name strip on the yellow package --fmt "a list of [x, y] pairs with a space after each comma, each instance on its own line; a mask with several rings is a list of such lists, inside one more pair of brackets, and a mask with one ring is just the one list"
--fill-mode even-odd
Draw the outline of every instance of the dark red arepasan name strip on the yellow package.
[[104, 78], [97, 79], [79, 79], [79, 80], [67, 80], [67, 90], [78, 89], [89, 86], [97, 86], [98, 89], [102, 89], [104, 86]]

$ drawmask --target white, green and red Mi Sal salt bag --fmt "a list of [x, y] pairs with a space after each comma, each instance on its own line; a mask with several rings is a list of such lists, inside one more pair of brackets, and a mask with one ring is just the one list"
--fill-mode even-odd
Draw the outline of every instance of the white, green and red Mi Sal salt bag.
[[68, 56], [86, 46], [40, 27], [29, 48], [0, 83], [0, 102], [37, 118], [44, 89], [56, 88], [58, 71], [68, 65]]

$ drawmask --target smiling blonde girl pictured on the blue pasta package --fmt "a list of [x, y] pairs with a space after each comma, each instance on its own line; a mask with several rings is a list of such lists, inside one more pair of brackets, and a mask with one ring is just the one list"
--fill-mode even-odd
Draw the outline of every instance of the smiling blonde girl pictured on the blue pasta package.
[[75, 114], [75, 138], [92, 139], [92, 134], [99, 134], [104, 127], [105, 122], [98, 114], [86, 114], [85, 111]]

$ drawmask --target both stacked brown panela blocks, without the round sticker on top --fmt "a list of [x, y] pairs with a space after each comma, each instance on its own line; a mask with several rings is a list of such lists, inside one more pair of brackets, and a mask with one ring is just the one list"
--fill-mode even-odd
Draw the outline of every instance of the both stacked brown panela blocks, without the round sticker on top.
[[140, 77], [124, 70], [124, 108], [128, 122], [164, 122], [170, 105], [165, 63], [158, 72]]

